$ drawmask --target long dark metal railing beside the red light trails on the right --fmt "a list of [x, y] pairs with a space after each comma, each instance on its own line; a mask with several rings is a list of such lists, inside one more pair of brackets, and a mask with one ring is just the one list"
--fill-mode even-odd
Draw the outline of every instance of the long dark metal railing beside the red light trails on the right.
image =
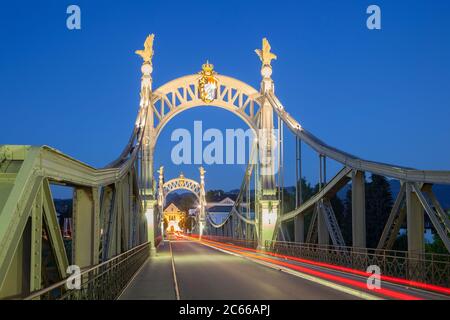
[[[450, 287], [450, 255], [354, 248], [308, 243], [267, 241], [266, 250], [314, 262], [366, 272], [378, 266], [382, 276]], [[305, 261], [307, 262], [307, 261]]]

